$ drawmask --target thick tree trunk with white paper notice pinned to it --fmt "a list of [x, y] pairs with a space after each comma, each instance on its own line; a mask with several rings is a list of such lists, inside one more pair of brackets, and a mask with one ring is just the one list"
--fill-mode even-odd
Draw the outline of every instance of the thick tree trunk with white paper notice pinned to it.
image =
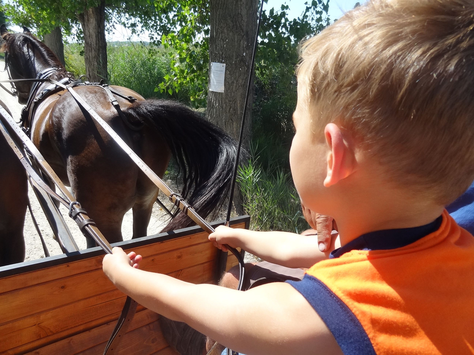
[[[209, 91], [207, 119], [238, 140], [257, 28], [258, 0], [210, 0], [210, 62], [226, 63], [224, 92]], [[209, 70], [210, 84], [210, 70]], [[253, 78], [243, 148], [250, 145]]]

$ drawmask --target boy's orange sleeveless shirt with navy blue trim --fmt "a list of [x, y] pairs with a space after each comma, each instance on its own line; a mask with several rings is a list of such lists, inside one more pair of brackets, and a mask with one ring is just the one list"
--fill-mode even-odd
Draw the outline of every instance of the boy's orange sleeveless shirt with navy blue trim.
[[367, 233], [287, 282], [345, 355], [474, 354], [474, 237], [447, 211]]

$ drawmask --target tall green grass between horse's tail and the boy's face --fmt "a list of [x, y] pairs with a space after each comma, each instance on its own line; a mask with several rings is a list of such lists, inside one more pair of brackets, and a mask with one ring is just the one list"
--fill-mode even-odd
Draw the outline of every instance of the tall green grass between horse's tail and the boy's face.
[[292, 184], [290, 173], [279, 165], [278, 160], [267, 156], [264, 166], [258, 151], [258, 143], [252, 146], [251, 159], [239, 167], [237, 181], [244, 196], [244, 211], [251, 216], [250, 229], [256, 231], [290, 231], [301, 233], [309, 229], [301, 213], [298, 193]]

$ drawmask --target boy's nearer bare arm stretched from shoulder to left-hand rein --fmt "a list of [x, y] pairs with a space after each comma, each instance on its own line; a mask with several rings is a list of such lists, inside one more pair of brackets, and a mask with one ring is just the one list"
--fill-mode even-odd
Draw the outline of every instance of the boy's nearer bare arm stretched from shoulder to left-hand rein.
[[240, 292], [135, 269], [120, 248], [104, 257], [110, 280], [134, 300], [243, 354], [342, 354], [306, 299], [290, 284]]

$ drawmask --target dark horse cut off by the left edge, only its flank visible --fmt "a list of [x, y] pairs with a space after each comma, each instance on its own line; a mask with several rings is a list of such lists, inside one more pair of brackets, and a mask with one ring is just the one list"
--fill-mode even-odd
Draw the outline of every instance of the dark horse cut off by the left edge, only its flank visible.
[[[8, 107], [0, 105], [11, 115]], [[0, 134], [0, 266], [25, 260], [23, 227], [28, 203], [25, 169]]]

